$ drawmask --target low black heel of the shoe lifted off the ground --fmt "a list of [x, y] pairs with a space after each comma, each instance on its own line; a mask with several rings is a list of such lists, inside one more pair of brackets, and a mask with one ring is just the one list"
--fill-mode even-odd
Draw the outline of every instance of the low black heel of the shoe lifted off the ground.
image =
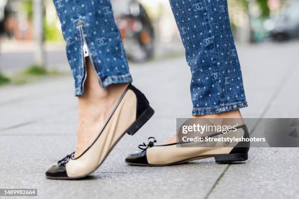
[[151, 118], [154, 112], [155, 111], [149, 106], [127, 129], [128, 135], [134, 135]]

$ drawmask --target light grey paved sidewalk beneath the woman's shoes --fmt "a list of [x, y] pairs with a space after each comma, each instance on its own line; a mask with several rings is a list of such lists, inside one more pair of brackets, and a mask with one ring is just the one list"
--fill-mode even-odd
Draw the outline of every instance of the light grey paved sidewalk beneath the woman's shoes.
[[[298, 42], [238, 47], [249, 102], [244, 117], [299, 118], [298, 48]], [[241, 164], [204, 159], [171, 167], [126, 165], [128, 152], [149, 136], [167, 139], [175, 118], [190, 117], [192, 108], [183, 57], [132, 65], [131, 73], [156, 113], [82, 180], [44, 177], [48, 165], [75, 148], [72, 78], [0, 88], [0, 188], [37, 188], [43, 199], [299, 198], [298, 148], [252, 148]]]

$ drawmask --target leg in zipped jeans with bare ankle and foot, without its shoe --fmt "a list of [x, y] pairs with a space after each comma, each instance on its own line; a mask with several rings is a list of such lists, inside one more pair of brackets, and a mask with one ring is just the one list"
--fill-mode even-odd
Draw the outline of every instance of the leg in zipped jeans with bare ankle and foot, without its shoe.
[[132, 81], [109, 0], [53, 0], [79, 101], [77, 150], [95, 139]]

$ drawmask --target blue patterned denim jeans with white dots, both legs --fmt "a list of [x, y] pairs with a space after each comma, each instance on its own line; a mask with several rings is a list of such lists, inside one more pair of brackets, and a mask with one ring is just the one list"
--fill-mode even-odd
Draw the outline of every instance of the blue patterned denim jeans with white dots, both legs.
[[[131, 82], [126, 53], [110, 0], [53, 0], [75, 79], [84, 93], [85, 57], [103, 88]], [[247, 106], [227, 0], [170, 0], [191, 69], [192, 115]]]

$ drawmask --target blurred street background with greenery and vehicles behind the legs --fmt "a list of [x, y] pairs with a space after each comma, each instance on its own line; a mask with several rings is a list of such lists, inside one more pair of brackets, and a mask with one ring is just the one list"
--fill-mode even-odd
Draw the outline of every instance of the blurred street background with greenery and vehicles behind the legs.
[[[228, 3], [239, 45], [258, 48], [258, 43], [290, 44], [299, 38], [299, 0]], [[184, 53], [168, 0], [112, 0], [112, 4], [130, 61]], [[0, 73], [7, 81], [0, 80], [0, 85], [9, 79], [15, 82], [10, 76], [26, 69], [67, 71], [64, 46], [52, 0], [1, 0]]]

